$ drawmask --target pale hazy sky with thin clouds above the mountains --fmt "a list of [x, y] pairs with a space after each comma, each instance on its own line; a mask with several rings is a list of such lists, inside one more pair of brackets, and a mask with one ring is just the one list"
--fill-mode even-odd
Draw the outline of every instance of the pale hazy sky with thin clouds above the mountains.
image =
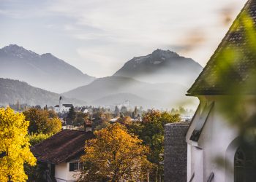
[[91, 76], [110, 76], [157, 48], [202, 66], [246, 0], [0, 0], [0, 47], [50, 52]]

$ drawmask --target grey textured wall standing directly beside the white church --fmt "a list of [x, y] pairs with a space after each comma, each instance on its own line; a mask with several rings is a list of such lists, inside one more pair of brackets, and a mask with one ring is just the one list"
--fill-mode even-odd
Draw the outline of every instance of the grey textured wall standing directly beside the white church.
[[165, 182], [187, 181], [187, 143], [189, 124], [165, 124]]

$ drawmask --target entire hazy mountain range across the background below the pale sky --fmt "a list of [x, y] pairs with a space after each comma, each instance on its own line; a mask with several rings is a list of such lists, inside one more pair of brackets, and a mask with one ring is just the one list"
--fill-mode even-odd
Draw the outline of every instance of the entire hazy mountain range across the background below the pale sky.
[[[127, 61], [113, 76], [96, 79], [50, 53], [39, 55], [15, 44], [0, 50], [0, 63], [0, 77], [9, 78], [9, 82], [10, 79], [19, 79], [44, 89], [12, 81], [15, 91], [9, 91], [12, 94], [8, 100], [10, 87], [5, 84], [6, 90], [0, 92], [0, 103], [16, 100], [29, 104], [45, 103], [49, 95], [49, 104], [56, 104], [59, 95], [53, 92], [62, 92], [66, 98], [75, 98], [69, 100], [73, 103], [84, 101], [91, 105], [106, 106], [129, 100], [132, 106], [170, 108], [189, 100], [185, 97], [187, 88], [202, 70], [195, 60], [170, 50], [155, 50], [149, 55]], [[0, 79], [0, 82], [4, 80]], [[18, 95], [23, 99], [18, 99]], [[42, 102], [33, 100], [37, 95], [45, 95]]]

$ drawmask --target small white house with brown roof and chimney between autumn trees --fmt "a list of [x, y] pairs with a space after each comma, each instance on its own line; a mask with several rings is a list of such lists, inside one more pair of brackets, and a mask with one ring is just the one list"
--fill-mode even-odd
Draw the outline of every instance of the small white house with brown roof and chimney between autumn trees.
[[57, 182], [76, 181], [82, 169], [80, 157], [84, 154], [87, 140], [94, 138], [93, 132], [62, 130], [31, 148], [39, 166], [45, 166], [45, 180]]

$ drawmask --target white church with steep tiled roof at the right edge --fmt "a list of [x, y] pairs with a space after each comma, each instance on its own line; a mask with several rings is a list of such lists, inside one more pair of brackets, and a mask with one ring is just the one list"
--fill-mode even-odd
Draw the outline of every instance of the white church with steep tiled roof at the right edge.
[[189, 182], [256, 181], [255, 25], [249, 0], [188, 90], [200, 100], [186, 135]]

